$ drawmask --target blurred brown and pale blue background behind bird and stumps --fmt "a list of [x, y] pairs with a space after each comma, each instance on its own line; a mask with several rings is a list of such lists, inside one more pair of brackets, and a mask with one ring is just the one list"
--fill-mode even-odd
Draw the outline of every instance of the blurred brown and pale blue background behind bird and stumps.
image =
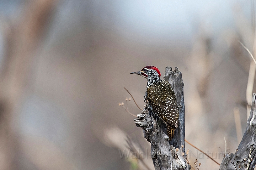
[[[255, 53], [254, 8], [254, 0], [1, 0], [0, 169], [145, 169], [132, 154], [121, 158], [126, 135], [153, 169], [150, 143], [118, 106], [130, 97], [124, 86], [144, 106], [146, 80], [129, 73], [148, 65], [161, 78], [166, 66], [180, 69], [186, 139], [221, 163], [225, 140], [226, 152], [240, 143], [255, 92], [255, 65], [239, 44]], [[218, 169], [186, 149], [200, 169]]]

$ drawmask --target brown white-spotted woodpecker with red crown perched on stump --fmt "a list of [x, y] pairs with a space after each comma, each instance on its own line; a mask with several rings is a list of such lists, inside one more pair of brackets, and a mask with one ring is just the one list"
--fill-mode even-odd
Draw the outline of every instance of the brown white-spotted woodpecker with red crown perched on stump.
[[174, 137], [174, 131], [178, 127], [178, 106], [176, 96], [169, 82], [161, 80], [161, 73], [154, 66], [146, 66], [138, 74], [146, 79], [146, 97], [154, 112], [162, 119], [167, 127], [167, 135], [170, 140]]

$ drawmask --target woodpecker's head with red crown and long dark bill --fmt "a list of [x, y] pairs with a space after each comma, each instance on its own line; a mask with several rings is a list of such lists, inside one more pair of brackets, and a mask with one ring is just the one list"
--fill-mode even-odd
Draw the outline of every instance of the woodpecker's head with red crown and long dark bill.
[[155, 66], [146, 66], [139, 72], [132, 72], [130, 74], [138, 74], [146, 79], [148, 79], [149, 77], [154, 77], [154, 76], [157, 76], [158, 78], [160, 78], [160, 76], [161, 76], [159, 69], [156, 68]]

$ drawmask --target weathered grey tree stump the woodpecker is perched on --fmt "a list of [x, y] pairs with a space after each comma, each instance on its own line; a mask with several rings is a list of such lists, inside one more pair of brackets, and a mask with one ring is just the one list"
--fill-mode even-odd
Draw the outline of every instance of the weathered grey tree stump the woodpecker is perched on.
[[166, 67], [164, 79], [169, 81], [176, 94], [179, 105], [179, 125], [175, 130], [174, 139], [169, 140], [166, 135], [166, 125], [161, 119], [156, 117], [144, 96], [145, 106], [138, 118], [134, 119], [137, 127], [143, 129], [144, 137], [151, 143], [151, 157], [155, 170], [190, 170], [190, 165], [186, 161], [185, 150], [185, 106], [183, 97], [183, 81], [181, 72], [175, 67], [172, 72], [171, 67]]

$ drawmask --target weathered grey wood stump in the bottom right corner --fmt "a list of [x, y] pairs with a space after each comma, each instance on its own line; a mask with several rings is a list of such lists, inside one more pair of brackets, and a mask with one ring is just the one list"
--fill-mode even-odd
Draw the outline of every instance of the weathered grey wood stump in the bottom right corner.
[[[233, 154], [231, 153], [226, 154], [225, 158], [223, 158], [222, 163], [220, 164], [220, 170], [235, 170], [235, 169], [241, 169], [241, 170], [253, 170], [255, 168], [255, 163], [256, 163], [256, 94], [253, 94], [252, 97], [252, 107], [251, 107], [251, 113], [250, 117], [247, 120], [247, 127], [246, 131], [244, 133], [244, 136], [242, 138], [242, 141], [240, 142], [238, 146], [238, 151]], [[251, 149], [251, 155], [250, 158], [252, 158], [252, 161], [249, 160], [249, 166], [248, 164], [248, 158], [250, 154], [250, 149]], [[234, 162], [234, 165], [230, 163], [230, 158], [231, 162]], [[244, 161], [244, 158], [246, 160]], [[239, 165], [241, 168], [239, 168]], [[236, 167], [236, 168], [235, 168]]]

